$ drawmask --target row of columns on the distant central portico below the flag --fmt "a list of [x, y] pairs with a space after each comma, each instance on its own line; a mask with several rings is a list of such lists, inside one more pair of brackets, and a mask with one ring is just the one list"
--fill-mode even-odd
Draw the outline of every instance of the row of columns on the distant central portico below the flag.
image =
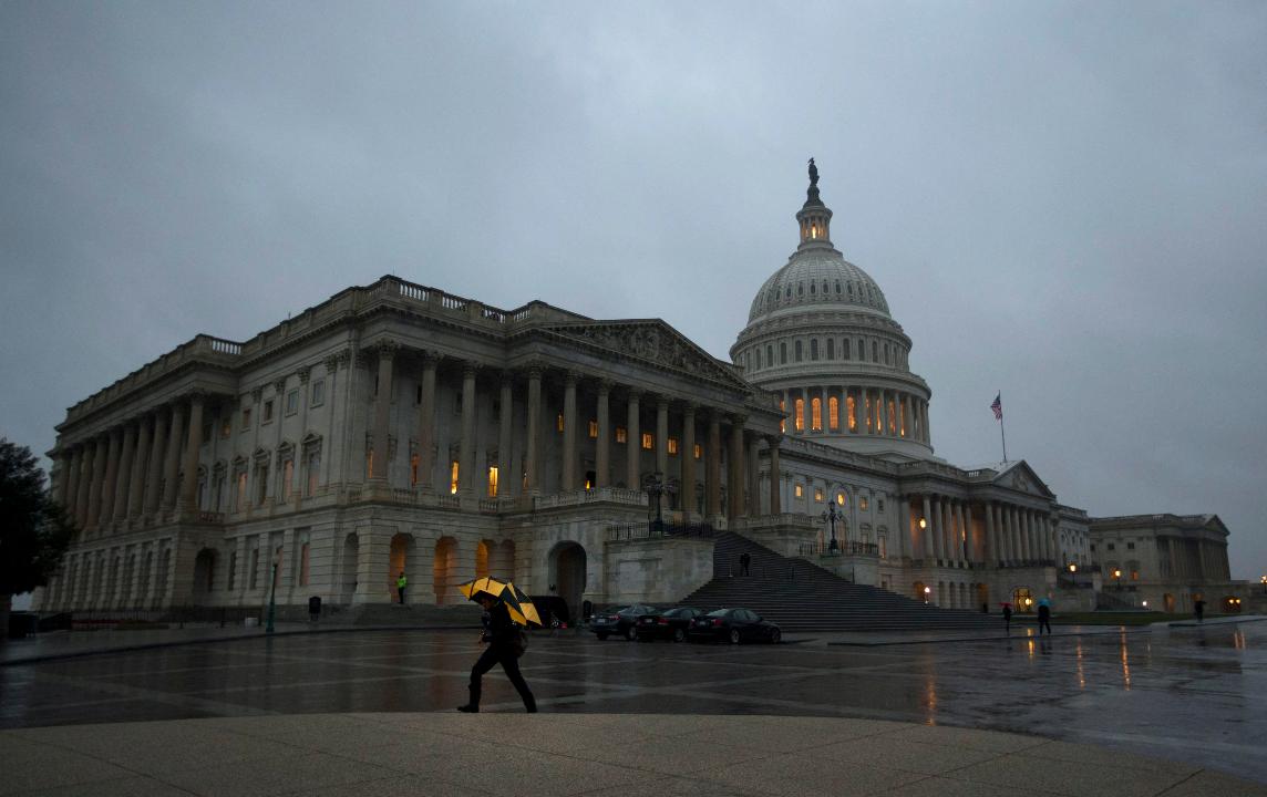
[[[912, 549], [924, 559], [976, 563], [1054, 561], [1055, 530], [1050, 513], [1002, 502], [972, 503], [958, 498], [925, 494], [915, 507], [912, 535], [922, 530]], [[983, 514], [973, 525], [974, 511]], [[924, 526], [920, 527], [920, 521]], [[984, 536], [981, 536], [982, 531]]]

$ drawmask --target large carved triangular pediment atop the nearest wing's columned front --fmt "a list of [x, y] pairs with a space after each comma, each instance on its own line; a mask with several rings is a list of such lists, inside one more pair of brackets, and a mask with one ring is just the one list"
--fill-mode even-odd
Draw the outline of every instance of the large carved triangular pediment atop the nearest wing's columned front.
[[653, 362], [694, 379], [707, 379], [735, 390], [751, 385], [669, 324], [651, 321], [599, 321], [547, 327], [559, 337], [582, 341], [622, 357]]

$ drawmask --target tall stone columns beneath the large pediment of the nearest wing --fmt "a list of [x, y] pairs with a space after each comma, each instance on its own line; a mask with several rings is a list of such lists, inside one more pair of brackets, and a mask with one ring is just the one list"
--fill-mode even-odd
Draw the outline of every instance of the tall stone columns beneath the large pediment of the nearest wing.
[[[372, 440], [388, 440], [390, 423], [390, 398], [393, 394], [393, 379], [395, 378], [395, 360], [400, 352], [400, 346], [394, 342], [383, 343], [378, 347], [378, 384], [379, 392], [374, 405]], [[433, 352], [423, 352], [422, 356], [422, 397], [418, 404], [418, 487], [431, 488], [432, 474], [435, 473], [435, 438], [436, 438], [436, 370], [440, 357]], [[471, 361], [462, 362], [462, 392], [461, 392], [461, 426], [459, 437], [459, 492], [471, 494], [475, 489], [475, 378], [479, 364]], [[526, 430], [526, 484], [530, 493], [542, 489], [541, 474], [541, 442], [544, 435], [544, 405], [542, 405], [542, 380], [546, 369], [541, 365], [532, 365], [527, 369], [527, 430]], [[500, 423], [498, 441], [498, 469], [502, 478], [507, 478], [513, 470], [511, 460], [512, 432], [513, 432], [513, 407], [514, 407], [514, 376], [513, 371], [500, 374]], [[563, 461], [560, 492], [578, 490], [584, 487], [580, 473], [580, 408], [578, 405], [578, 388], [583, 379], [593, 379], [595, 384], [595, 398], [593, 417], [597, 419], [597, 435], [594, 441], [594, 475], [595, 488], [609, 487], [608, 471], [612, 457], [612, 407], [611, 397], [616, 383], [603, 378], [593, 378], [580, 371], [569, 370], [564, 374], [563, 386]], [[723, 423], [729, 426], [729, 471], [726, 474], [727, 508], [730, 517], [740, 517], [750, 511], [749, 497], [755, 497], [756, 473], [755, 451], [760, 437], [746, 432], [744, 423], [746, 418], [739, 414], [729, 414], [721, 409], [701, 409], [692, 402], [674, 402], [673, 399], [651, 393], [644, 394], [636, 388], [622, 385], [626, 399], [626, 473], [631, 479], [641, 473], [642, 456], [642, 402], [655, 402], [655, 469], [669, 475], [669, 416], [675, 405], [680, 412], [682, 436], [678, 461], [680, 462], [678, 478], [682, 485], [682, 506], [691, 508], [696, 506], [696, 459], [694, 447], [697, 445], [697, 421], [703, 416], [706, 422], [703, 449], [704, 468], [704, 514], [721, 514], [721, 438]], [[587, 413], [588, 414], [588, 413]], [[751, 451], [745, 456], [745, 441]], [[770, 441], [777, 447], [778, 438]], [[750, 462], [751, 466], [746, 462]], [[778, 468], [778, 456], [774, 456], [774, 468]], [[388, 468], [375, 468], [370, 476], [371, 483], [386, 484]], [[631, 484], [631, 489], [640, 485]], [[777, 506], [778, 497], [772, 490], [772, 502]], [[755, 513], [755, 509], [753, 511]]]

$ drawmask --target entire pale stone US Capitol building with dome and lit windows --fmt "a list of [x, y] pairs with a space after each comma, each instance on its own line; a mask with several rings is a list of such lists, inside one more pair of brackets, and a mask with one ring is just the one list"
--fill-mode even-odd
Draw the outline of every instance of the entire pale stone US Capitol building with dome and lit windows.
[[57, 427], [81, 531], [37, 606], [260, 607], [274, 568], [283, 607], [386, 604], [400, 573], [409, 603], [485, 574], [574, 612], [672, 602], [713, 578], [718, 530], [953, 608], [1230, 601], [1216, 516], [1091, 518], [1025, 461], [934, 456], [911, 338], [817, 181], [811, 161], [799, 243], [730, 362], [660, 319], [395, 276], [177, 346]]

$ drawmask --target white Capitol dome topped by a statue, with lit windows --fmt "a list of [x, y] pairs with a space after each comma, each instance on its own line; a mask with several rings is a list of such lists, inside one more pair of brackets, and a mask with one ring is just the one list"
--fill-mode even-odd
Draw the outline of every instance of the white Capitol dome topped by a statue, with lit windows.
[[753, 299], [731, 347], [745, 378], [782, 397], [784, 433], [895, 460], [927, 459], [927, 383], [912, 374], [911, 338], [874, 279], [831, 243], [831, 210], [810, 188], [796, 214], [801, 242]]

